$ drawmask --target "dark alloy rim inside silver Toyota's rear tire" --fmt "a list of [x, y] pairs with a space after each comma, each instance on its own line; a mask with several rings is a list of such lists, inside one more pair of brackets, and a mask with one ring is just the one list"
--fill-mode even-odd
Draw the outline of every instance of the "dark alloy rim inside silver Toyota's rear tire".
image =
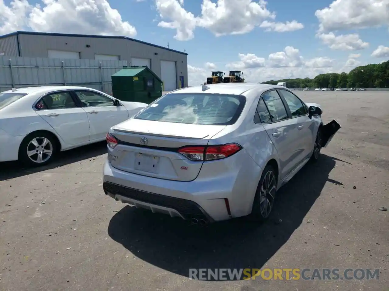
[[273, 208], [277, 181], [273, 171], [268, 171], [262, 181], [259, 193], [259, 209], [263, 218], [267, 218]]

